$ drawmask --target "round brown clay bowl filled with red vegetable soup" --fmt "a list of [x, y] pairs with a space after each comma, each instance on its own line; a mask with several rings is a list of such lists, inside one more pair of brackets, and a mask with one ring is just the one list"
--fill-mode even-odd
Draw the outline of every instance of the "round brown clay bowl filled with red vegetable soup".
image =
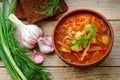
[[52, 41], [56, 54], [65, 63], [91, 67], [108, 56], [114, 33], [110, 22], [99, 12], [77, 9], [60, 17]]

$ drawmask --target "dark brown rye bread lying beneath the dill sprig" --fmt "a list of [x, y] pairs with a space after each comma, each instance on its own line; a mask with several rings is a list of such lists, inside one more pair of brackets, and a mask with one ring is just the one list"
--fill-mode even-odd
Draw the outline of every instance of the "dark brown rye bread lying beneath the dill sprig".
[[[15, 15], [20, 19], [27, 19], [30, 24], [34, 24], [49, 17], [34, 12], [39, 11], [41, 6], [44, 5], [45, 0], [18, 0]], [[60, 10], [56, 14], [66, 12], [67, 10], [68, 6], [66, 2], [60, 0]]]

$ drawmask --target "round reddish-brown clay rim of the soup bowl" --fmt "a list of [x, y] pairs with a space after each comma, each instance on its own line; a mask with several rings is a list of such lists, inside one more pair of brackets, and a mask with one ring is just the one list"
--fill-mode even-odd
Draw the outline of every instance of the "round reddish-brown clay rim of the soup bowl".
[[[107, 52], [106, 52], [100, 59], [98, 59], [97, 61], [94, 61], [94, 62], [88, 63], [88, 64], [78, 64], [78, 63], [72, 63], [72, 62], [67, 61], [65, 58], [63, 58], [63, 57], [60, 55], [59, 51], [58, 51], [57, 48], [56, 48], [56, 44], [55, 44], [55, 31], [56, 31], [57, 27], [59, 26], [59, 24], [61, 23], [61, 21], [62, 21], [63, 19], [65, 19], [66, 17], [68, 17], [68, 15], [72, 15], [72, 14], [74, 15], [74, 13], [78, 13], [78, 12], [83, 12], [83, 13], [84, 13], [84, 12], [87, 12], [87, 13], [94, 14], [94, 15], [102, 18], [102, 19], [105, 21], [105, 23], [108, 25], [108, 27], [109, 27], [109, 29], [110, 29], [110, 33], [111, 33], [111, 36], [110, 36], [111, 42], [110, 42], [110, 45], [109, 45], [109, 47], [108, 47]], [[108, 56], [108, 54], [110, 53], [111, 48], [112, 48], [112, 46], [113, 46], [113, 42], [114, 42], [114, 32], [113, 32], [113, 28], [112, 28], [110, 22], [109, 22], [109, 21], [107, 20], [107, 18], [106, 18], [105, 16], [103, 16], [101, 13], [99, 13], [98, 11], [95, 11], [95, 10], [91, 10], [91, 9], [76, 9], [76, 10], [72, 10], [72, 11], [69, 11], [69, 12], [63, 14], [63, 16], [61, 16], [61, 17], [59, 18], [59, 20], [57, 21], [57, 23], [56, 23], [56, 25], [55, 25], [55, 27], [54, 27], [54, 30], [53, 30], [53, 34], [52, 34], [52, 43], [53, 43], [55, 52], [56, 52], [56, 54], [59, 56], [59, 58], [61, 58], [64, 62], [66, 62], [66, 63], [69, 64], [69, 65], [78, 66], [78, 67], [94, 66], [94, 65], [99, 64], [100, 62], [102, 62], [102, 61]]]

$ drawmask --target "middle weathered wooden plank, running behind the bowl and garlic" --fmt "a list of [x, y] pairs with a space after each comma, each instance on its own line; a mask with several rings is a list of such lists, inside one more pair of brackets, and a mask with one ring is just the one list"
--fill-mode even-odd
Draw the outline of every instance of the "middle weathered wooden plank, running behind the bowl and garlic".
[[[52, 31], [55, 23], [56, 21], [52, 21], [52, 22], [48, 21], [48, 22], [42, 22], [39, 24], [39, 26], [42, 28], [44, 32], [44, 36], [52, 35]], [[111, 24], [113, 26], [114, 35], [115, 35], [114, 45], [110, 55], [102, 64], [100, 64], [100, 66], [120, 66], [120, 63], [119, 63], [120, 62], [120, 55], [119, 55], [120, 53], [120, 21], [111, 21]], [[19, 35], [19, 37], [17, 38], [20, 41], [21, 39], [20, 39], [19, 32], [17, 32], [17, 35]], [[39, 48], [37, 47], [36, 50], [39, 51]], [[41, 54], [45, 57], [43, 66], [68, 66], [58, 58], [55, 52], [49, 55], [43, 54], [43, 53]], [[29, 55], [32, 58], [33, 50], [30, 50], [30, 51], [28, 50], [27, 55]], [[0, 66], [4, 66], [2, 62], [0, 62]]]

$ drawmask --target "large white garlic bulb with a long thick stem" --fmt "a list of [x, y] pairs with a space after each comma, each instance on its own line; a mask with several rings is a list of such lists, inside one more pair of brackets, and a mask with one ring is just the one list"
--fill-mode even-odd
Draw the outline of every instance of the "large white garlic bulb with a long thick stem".
[[36, 25], [23, 24], [14, 14], [8, 17], [21, 32], [22, 43], [26, 48], [34, 48], [37, 44], [37, 40], [42, 36], [42, 30]]

